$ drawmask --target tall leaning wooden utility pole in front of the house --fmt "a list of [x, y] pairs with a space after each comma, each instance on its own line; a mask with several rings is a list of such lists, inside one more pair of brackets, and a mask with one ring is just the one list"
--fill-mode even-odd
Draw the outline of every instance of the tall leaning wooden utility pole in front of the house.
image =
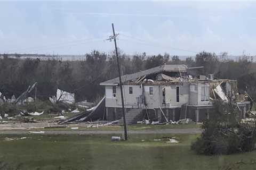
[[112, 23], [112, 29], [113, 29], [113, 36], [109, 36], [109, 39], [107, 39], [107, 40], [111, 41], [112, 39], [114, 39], [114, 42], [115, 42], [116, 62], [117, 62], [118, 73], [119, 73], [119, 85], [120, 85], [120, 90], [121, 90], [121, 100], [122, 100], [123, 118], [124, 118], [124, 139], [127, 140], [128, 135], [127, 135], [127, 124], [126, 124], [126, 120], [125, 120], [123, 84], [122, 84], [122, 79], [121, 79], [121, 71], [120, 71], [120, 66], [119, 66], [119, 57], [118, 57], [117, 46], [116, 46], [116, 36], [118, 36], [118, 34], [115, 34], [114, 23]]

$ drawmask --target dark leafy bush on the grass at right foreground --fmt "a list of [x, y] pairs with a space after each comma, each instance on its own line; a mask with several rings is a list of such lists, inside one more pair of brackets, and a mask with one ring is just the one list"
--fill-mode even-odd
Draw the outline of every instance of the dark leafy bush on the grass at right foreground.
[[204, 131], [191, 149], [204, 155], [252, 151], [256, 143], [255, 124], [240, 123], [240, 113], [231, 102], [215, 101], [214, 106], [214, 117], [203, 123]]

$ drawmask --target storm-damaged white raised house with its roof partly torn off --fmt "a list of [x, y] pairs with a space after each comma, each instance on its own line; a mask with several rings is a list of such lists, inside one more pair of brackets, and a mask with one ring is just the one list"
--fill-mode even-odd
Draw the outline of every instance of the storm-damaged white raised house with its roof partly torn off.
[[[211, 118], [212, 100], [227, 102], [233, 96], [241, 118], [249, 110], [250, 101], [239, 97], [236, 80], [216, 80], [213, 74], [193, 78], [186, 65], [161, 65], [122, 76], [124, 105], [128, 124], [143, 119], [178, 121], [191, 118], [195, 122]], [[106, 119], [122, 118], [119, 79], [100, 83], [105, 86]]]

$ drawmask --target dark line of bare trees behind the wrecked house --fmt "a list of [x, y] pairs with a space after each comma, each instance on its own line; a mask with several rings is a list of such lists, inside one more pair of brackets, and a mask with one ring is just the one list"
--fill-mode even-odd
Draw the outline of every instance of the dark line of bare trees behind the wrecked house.
[[[47, 99], [55, 95], [57, 88], [75, 93], [76, 100], [97, 101], [105, 91], [100, 82], [118, 76], [114, 53], [93, 50], [85, 55], [85, 60], [62, 61], [51, 58], [39, 60], [19, 57], [10, 58], [3, 54], [0, 60], [0, 91], [7, 97], [18, 97], [30, 84], [38, 82], [37, 97]], [[217, 56], [214, 53], [201, 52], [195, 57], [180, 60], [179, 56], [148, 56], [146, 53], [127, 56], [119, 52], [122, 74], [130, 74], [163, 64], [186, 64], [189, 67], [204, 66], [196, 73], [214, 74], [218, 79], [234, 79], [238, 81], [239, 92], [246, 90], [256, 97], [256, 63], [246, 55], [239, 60], [232, 60], [226, 53]]]

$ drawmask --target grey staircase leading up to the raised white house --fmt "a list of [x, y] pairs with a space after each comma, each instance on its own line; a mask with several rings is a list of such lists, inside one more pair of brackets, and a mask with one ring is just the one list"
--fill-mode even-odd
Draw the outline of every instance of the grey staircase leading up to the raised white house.
[[[135, 123], [137, 123], [137, 121], [141, 121], [141, 120], [137, 120], [137, 118], [141, 117], [142, 111], [143, 111], [143, 109], [139, 109], [139, 108], [127, 109], [126, 114], [125, 114], [126, 123], [127, 124], [135, 124]], [[120, 123], [123, 124], [123, 117], [121, 118]]]

